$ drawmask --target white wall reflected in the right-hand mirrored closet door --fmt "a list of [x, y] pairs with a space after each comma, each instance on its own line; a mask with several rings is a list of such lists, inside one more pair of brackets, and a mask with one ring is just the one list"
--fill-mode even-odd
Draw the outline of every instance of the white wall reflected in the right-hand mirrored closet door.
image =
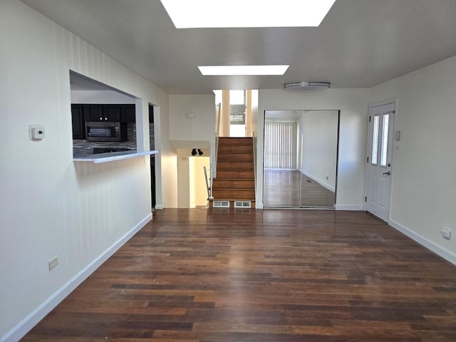
[[336, 190], [336, 110], [304, 110], [300, 119], [301, 172], [312, 180]]

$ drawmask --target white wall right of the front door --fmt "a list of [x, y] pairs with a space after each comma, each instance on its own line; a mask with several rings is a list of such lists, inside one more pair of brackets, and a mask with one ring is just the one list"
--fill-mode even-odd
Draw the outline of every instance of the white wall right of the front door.
[[390, 224], [456, 263], [456, 56], [372, 88], [371, 103], [388, 99], [400, 130]]

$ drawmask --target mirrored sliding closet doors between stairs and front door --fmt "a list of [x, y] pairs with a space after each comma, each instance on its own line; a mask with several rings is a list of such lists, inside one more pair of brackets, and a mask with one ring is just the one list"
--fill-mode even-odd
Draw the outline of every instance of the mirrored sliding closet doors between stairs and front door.
[[338, 110], [266, 110], [264, 207], [334, 207], [338, 123]]

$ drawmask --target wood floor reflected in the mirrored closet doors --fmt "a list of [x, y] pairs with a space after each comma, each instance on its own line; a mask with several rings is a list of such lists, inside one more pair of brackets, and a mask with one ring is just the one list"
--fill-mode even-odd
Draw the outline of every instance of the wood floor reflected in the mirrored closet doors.
[[264, 170], [264, 207], [329, 207], [336, 194], [296, 170]]

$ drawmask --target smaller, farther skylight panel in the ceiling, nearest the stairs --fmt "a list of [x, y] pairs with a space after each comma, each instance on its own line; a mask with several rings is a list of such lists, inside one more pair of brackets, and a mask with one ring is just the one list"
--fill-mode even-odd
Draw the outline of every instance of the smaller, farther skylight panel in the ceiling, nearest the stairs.
[[204, 76], [284, 75], [289, 66], [199, 66]]

